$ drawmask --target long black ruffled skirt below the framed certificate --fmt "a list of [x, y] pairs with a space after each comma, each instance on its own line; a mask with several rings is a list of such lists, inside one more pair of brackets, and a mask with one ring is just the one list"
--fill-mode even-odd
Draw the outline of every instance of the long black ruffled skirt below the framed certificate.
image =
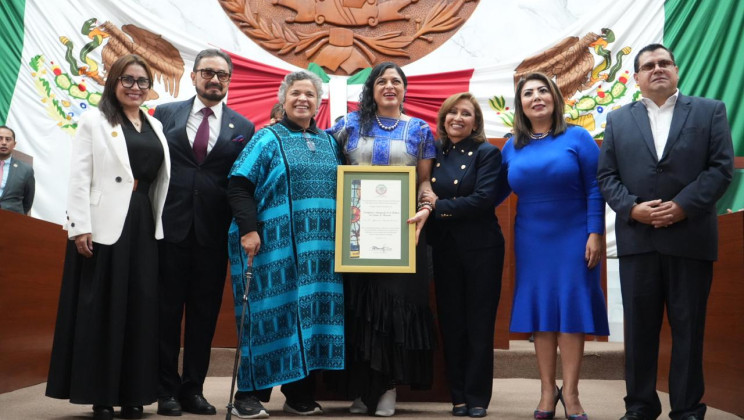
[[330, 388], [350, 399], [361, 397], [371, 412], [392, 385], [431, 388], [436, 347], [431, 279], [424, 232], [415, 274], [344, 275], [346, 370], [329, 375]]

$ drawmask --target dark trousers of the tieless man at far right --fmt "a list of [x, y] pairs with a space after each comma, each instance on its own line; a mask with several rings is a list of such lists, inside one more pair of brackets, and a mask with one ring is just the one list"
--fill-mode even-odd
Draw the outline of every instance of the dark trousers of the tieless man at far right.
[[705, 416], [705, 313], [713, 262], [647, 253], [620, 257], [625, 316], [625, 407], [650, 418], [661, 414], [656, 393], [659, 333], [664, 307], [672, 330], [669, 416]]

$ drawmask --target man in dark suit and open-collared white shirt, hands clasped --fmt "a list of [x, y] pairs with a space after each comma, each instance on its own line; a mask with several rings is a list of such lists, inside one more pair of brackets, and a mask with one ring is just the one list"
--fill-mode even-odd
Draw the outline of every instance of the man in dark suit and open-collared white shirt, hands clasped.
[[733, 175], [723, 102], [684, 96], [674, 55], [660, 44], [635, 58], [643, 98], [607, 116], [598, 179], [615, 210], [625, 315], [627, 412], [655, 419], [659, 332], [672, 330], [673, 420], [702, 419], [705, 312], [718, 257], [716, 201]]

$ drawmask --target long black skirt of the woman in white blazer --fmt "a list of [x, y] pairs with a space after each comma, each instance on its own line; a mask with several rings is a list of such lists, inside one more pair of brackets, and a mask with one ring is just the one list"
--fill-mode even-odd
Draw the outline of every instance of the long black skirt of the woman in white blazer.
[[68, 241], [46, 395], [148, 405], [158, 385], [158, 249], [150, 199], [132, 193], [124, 230], [93, 257]]

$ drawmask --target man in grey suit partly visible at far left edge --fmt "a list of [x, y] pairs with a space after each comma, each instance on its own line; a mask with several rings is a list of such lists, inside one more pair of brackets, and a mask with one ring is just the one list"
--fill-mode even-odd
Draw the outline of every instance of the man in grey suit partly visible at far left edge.
[[0, 126], [0, 209], [28, 214], [36, 191], [34, 170], [11, 156], [15, 145], [15, 132]]

